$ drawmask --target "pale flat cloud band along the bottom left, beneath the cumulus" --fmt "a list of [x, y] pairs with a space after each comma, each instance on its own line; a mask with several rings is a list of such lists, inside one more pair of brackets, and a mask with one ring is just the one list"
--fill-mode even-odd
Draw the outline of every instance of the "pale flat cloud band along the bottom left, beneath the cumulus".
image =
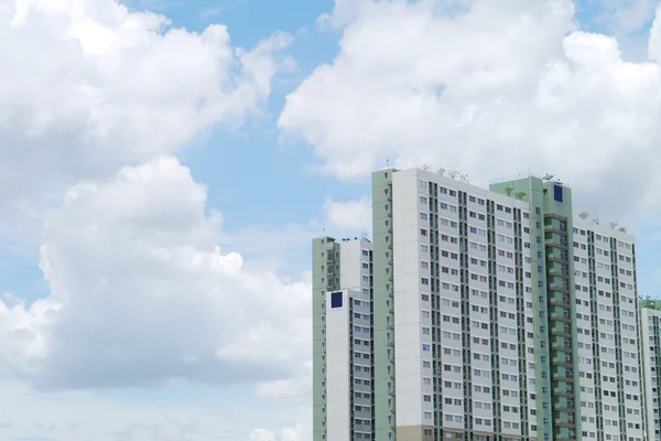
[[[53, 441], [247, 441], [256, 421], [262, 427], [296, 427], [307, 421], [300, 404], [246, 401], [237, 389], [214, 390], [174, 386], [118, 392], [35, 392], [29, 385], [0, 379], [2, 440]], [[183, 399], [182, 399], [183, 398]], [[250, 406], [250, 411], [246, 411]], [[307, 427], [306, 424], [304, 427]], [[279, 430], [278, 432], [281, 432]], [[311, 438], [301, 438], [307, 441]]]

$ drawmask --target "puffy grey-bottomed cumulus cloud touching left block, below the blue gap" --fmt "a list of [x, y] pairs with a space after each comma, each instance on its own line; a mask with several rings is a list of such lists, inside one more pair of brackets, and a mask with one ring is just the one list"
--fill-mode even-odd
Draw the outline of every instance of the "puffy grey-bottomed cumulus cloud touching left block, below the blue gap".
[[[277, 381], [307, 358], [310, 281], [248, 269], [172, 157], [71, 187], [47, 220], [48, 298], [0, 302], [0, 362], [44, 387]], [[274, 383], [267, 395], [286, 395]], [[273, 387], [277, 389], [274, 390]]]

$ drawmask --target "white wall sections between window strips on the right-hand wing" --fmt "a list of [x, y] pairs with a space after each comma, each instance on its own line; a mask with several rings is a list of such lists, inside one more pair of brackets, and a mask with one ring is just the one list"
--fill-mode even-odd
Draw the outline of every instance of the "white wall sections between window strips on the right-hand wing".
[[[619, 437], [626, 432], [627, 439], [643, 439], [642, 432], [642, 412], [643, 397], [642, 388], [644, 374], [639, 372], [638, 357], [638, 340], [639, 326], [637, 325], [638, 311], [636, 310], [636, 297], [638, 295], [635, 287], [635, 263], [632, 259], [632, 244], [635, 237], [610, 229], [603, 225], [596, 225], [593, 222], [582, 218], [574, 219], [574, 256], [578, 260], [574, 263], [574, 283], [576, 293], [576, 327], [578, 329], [578, 364], [581, 368], [581, 415], [587, 418], [587, 421], [582, 422], [582, 431], [588, 432], [588, 437], [597, 432], [596, 428], [596, 396], [595, 396], [595, 364], [600, 363], [602, 376], [609, 379], [614, 378], [617, 381], [617, 357], [615, 342], [615, 311], [620, 312], [621, 324], [621, 351], [622, 351], [622, 377], [625, 380], [624, 392], [625, 406], [627, 408], [627, 424], [633, 424], [632, 428], [619, 427], [619, 406], [618, 398], [610, 395], [602, 395], [602, 412], [605, 419], [604, 433], [613, 437]], [[589, 308], [589, 257], [588, 257], [588, 240], [587, 234], [595, 234], [595, 275], [597, 289], [597, 322], [599, 332], [599, 359], [594, 358], [593, 354], [593, 325], [590, 322], [592, 311]], [[619, 286], [619, 303], [615, 302], [613, 297], [613, 276], [611, 276], [611, 255], [610, 239], [615, 238], [618, 241], [617, 258], [618, 258], [618, 283]], [[624, 260], [620, 260], [620, 256]], [[627, 258], [630, 261], [627, 261]], [[624, 272], [621, 272], [624, 271]], [[587, 290], [586, 290], [587, 288]], [[606, 365], [604, 365], [606, 363]], [[617, 383], [602, 381], [603, 390], [616, 391]], [[632, 397], [638, 397], [633, 399]], [[611, 421], [618, 421], [618, 426], [608, 424]], [[589, 438], [587, 438], [589, 439]], [[652, 439], [652, 438], [648, 438]]]

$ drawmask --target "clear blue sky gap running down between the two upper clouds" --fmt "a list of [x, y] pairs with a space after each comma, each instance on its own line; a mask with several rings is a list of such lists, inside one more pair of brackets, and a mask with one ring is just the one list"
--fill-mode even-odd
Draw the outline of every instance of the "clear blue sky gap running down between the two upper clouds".
[[[304, 143], [297, 140], [281, 143], [279, 140], [278, 117], [286, 94], [316, 66], [330, 62], [337, 54], [342, 34], [316, 25], [323, 13], [332, 11], [333, 1], [326, 0], [194, 1], [185, 6], [174, 3], [162, 10], [173, 26], [192, 31], [199, 32], [212, 22], [221, 22], [228, 26], [232, 42], [246, 49], [274, 32], [295, 35], [289, 54], [296, 67], [275, 78], [264, 114], [236, 132], [214, 131], [202, 146], [182, 155], [196, 179], [209, 185], [209, 205], [238, 213], [227, 220], [230, 229], [247, 224], [296, 223], [319, 216], [323, 198], [330, 194], [330, 186], [337, 198], [353, 198], [365, 193], [365, 186], [347, 185], [313, 173], [310, 165], [318, 161]], [[266, 176], [292, 201], [301, 203], [268, 197]], [[247, 204], [247, 201], [256, 203]], [[285, 206], [288, 209], [283, 209]], [[267, 218], [264, 213], [269, 213]]]

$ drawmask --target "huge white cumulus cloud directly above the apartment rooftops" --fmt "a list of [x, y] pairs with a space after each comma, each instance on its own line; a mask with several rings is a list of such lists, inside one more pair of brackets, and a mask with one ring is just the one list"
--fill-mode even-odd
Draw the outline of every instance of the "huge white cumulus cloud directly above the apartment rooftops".
[[660, 17], [649, 60], [629, 63], [616, 39], [577, 29], [571, 0], [337, 0], [340, 51], [279, 123], [344, 180], [386, 159], [478, 184], [531, 170], [605, 214], [613, 197], [625, 213], [660, 205]]

